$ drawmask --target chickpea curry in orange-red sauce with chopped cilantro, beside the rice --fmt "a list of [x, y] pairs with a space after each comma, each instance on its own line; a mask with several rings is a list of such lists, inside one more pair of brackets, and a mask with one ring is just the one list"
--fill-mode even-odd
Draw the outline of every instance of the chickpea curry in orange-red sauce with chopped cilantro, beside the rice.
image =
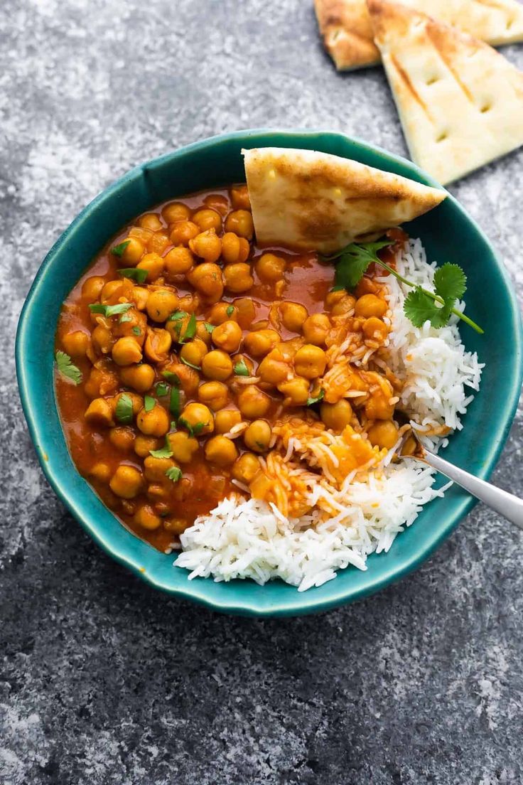
[[[107, 244], [60, 314], [71, 456], [159, 550], [232, 491], [301, 515], [311, 478], [343, 483], [398, 441], [383, 270], [348, 293], [317, 254], [253, 236], [245, 185], [158, 206]], [[394, 245], [382, 255], [394, 264]]]

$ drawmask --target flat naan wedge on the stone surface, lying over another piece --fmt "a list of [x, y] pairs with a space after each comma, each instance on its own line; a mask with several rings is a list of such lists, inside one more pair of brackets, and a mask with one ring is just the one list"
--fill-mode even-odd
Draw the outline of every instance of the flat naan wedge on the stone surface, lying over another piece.
[[523, 73], [430, 16], [369, 0], [412, 160], [441, 183], [523, 144]]

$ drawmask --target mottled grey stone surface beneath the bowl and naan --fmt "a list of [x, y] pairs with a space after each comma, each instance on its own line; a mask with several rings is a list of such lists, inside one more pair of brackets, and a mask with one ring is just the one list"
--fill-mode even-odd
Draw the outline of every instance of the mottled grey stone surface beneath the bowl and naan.
[[[523, 46], [506, 54], [523, 67]], [[382, 71], [337, 75], [311, 0], [4, 0], [0, 113], [2, 785], [521, 783], [519, 531], [478, 507], [369, 600], [289, 621], [214, 615], [94, 546], [43, 479], [16, 392], [24, 296], [96, 193], [249, 126], [405, 153]], [[520, 290], [522, 163], [452, 188]], [[520, 419], [494, 476], [520, 493], [522, 433]]]

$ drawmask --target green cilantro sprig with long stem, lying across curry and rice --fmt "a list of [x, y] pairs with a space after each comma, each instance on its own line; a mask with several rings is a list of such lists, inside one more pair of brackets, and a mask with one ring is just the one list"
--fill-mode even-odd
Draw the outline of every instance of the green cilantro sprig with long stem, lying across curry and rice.
[[367, 272], [369, 265], [380, 265], [391, 276], [412, 287], [412, 292], [405, 298], [403, 309], [405, 316], [414, 327], [422, 327], [428, 320], [432, 327], [444, 327], [451, 314], [455, 314], [469, 327], [483, 334], [484, 330], [463, 312], [456, 309], [456, 301], [463, 297], [467, 290], [467, 276], [459, 265], [446, 262], [434, 273], [434, 292], [412, 283], [401, 276], [397, 270], [378, 256], [378, 251], [391, 245], [393, 240], [379, 240], [376, 243], [350, 243], [336, 254], [322, 257], [324, 261], [336, 263], [335, 289], [354, 289]]

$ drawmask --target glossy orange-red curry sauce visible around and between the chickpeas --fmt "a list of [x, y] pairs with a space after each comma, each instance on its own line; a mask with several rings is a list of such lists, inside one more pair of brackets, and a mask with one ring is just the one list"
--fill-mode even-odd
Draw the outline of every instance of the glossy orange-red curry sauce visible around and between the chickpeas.
[[[234, 209], [234, 203], [231, 205], [231, 192], [227, 189], [202, 192], [184, 199], [176, 199], [176, 203], [186, 205], [191, 210], [191, 215], [194, 214], [195, 210], [214, 206], [220, 212], [223, 221], [227, 214]], [[156, 233], [160, 232], [169, 237], [173, 225], [168, 225], [162, 218], [164, 207], [165, 205], [160, 205], [154, 208], [154, 210], [150, 210], [146, 215], [156, 214], [162, 223], [162, 228], [158, 228]], [[129, 232], [139, 226], [140, 218], [114, 236], [104, 249], [100, 251], [93, 263], [89, 265], [89, 268], [71, 291], [60, 313], [56, 330], [56, 350], [67, 352], [67, 340], [64, 341], [64, 337], [76, 331], [82, 331], [89, 337], [89, 342], [91, 341], [93, 329], [96, 327], [96, 314], [90, 312], [89, 302], [93, 302], [93, 298], [82, 296], [82, 286], [92, 276], [101, 276], [104, 282], [121, 279], [121, 276], [118, 276], [118, 268], [133, 265], [124, 265], [121, 259], [111, 253], [111, 248], [114, 248], [118, 243], [122, 243], [129, 236]], [[218, 232], [219, 235], [220, 233]], [[140, 232], [138, 234], [140, 235]], [[145, 253], [150, 250], [150, 247], [150, 244], [147, 244]], [[165, 257], [165, 254], [172, 248], [173, 243], [169, 240], [169, 244], [162, 248], [160, 255]], [[223, 290], [223, 295], [219, 298], [220, 302], [234, 304], [234, 301], [238, 298], [252, 298], [256, 311], [255, 325], [263, 319], [267, 319], [269, 309], [274, 300], [300, 303], [305, 306], [309, 315], [324, 312], [325, 297], [333, 286], [334, 267], [331, 264], [324, 264], [318, 261], [317, 254], [314, 253], [296, 254], [283, 248], [271, 249], [271, 251], [277, 254], [278, 257], [285, 259], [284, 281], [267, 283], [260, 280], [256, 272], [256, 259], [263, 252], [267, 252], [267, 250], [262, 252], [256, 244], [251, 243], [248, 261], [252, 265], [253, 286], [241, 294], [232, 294], [226, 287]], [[389, 263], [392, 261], [392, 255], [390, 257], [387, 255], [387, 261]], [[218, 263], [223, 265], [222, 260], [219, 260]], [[372, 276], [372, 272], [369, 275]], [[141, 285], [147, 287], [151, 283], [160, 286], [165, 283], [168, 287], [174, 285], [180, 298], [184, 294], [194, 294], [194, 288], [187, 283], [185, 276], [176, 276], [174, 280], [160, 276], [159, 279], [154, 279], [154, 281], [147, 279]], [[96, 298], [96, 301], [99, 301], [99, 299]], [[205, 301], [202, 301], [195, 312], [198, 320], [208, 319], [211, 309], [212, 305], [207, 305]], [[118, 316], [115, 317], [115, 320], [118, 320]], [[148, 319], [148, 327], [151, 327], [151, 325], [155, 327], [164, 326], [162, 323], [151, 323], [151, 319]], [[271, 327], [271, 324], [268, 324], [267, 327]], [[249, 330], [243, 330], [244, 337], [248, 332]], [[290, 333], [283, 326], [281, 326], [279, 333], [283, 341], [296, 337], [296, 333]], [[179, 349], [180, 346], [176, 346], [173, 343], [169, 356], [175, 355]], [[93, 349], [91, 349], [91, 352], [93, 352]], [[248, 352], [245, 352], [242, 345], [238, 352], [241, 352], [243, 357], [249, 358]], [[233, 353], [233, 361], [234, 355], [238, 352]], [[98, 359], [107, 358], [105, 362], [109, 364], [109, 367], [112, 368], [115, 374], [122, 371], [122, 368], [112, 362], [111, 352], [105, 355], [100, 355], [100, 352], [96, 352], [96, 354]], [[256, 363], [260, 361], [260, 358], [250, 359], [252, 359], [252, 367], [256, 368]], [[89, 484], [92, 485], [104, 504], [113, 511], [127, 528], [134, 531], [141, 539], [150, 542], [155, 548], [162, 551], [168, 550], [169, 546], [172, 546], [177, 541], [183, 529], [190, 526], [198, 515], [208, 513], [232, 489], [238, 491], [238, 488], [231, 484], [231, 469], [229, 467], [220, 468], [220, 466], [212, 465], [205, 460], [203, 449], [205, 437], [200, 436], [198, 438], [200, 446], [198, 451], [194, 453], [191, 461], [183, 465], [180, 464], [180, 468], [183, 471], [183, 479], [176, 483], [164, 481], [163, 495], [159, 495], [159, 492], [158, 495], [155, 495], [158, 489], [151, 491], [151, 482], [147, 485], [147, 481], [143, 482], [140, 492], [132, 498], [120, 498], [118, 495], [115, 495], [109, 486], [107, 476], [112, 476], [118, 469], [118, 466], [122, 466], [122, 464], [133, 466], [140, 473], [143, 473], [143, 458], [136, 455], [136, 452], [133, 450], [133, 436], [129, 436], [129, 446], [122, 449], [122, 445], [117, 446], [113, 440], [108, 438], [107, 432], [109, 429], [107, 426], [86, 422], [84, 417], [85, 411], [93, 400], [93, 395], [88, 395], [85, 392], [85, 382], [89, 380], [93, 363], [87, 356], [73, 356], [72, 362], [82, 372], [82, 382], [74, 385], [60, 373], [56, 373], [56, 398], [67, 445], [74, 464], [77, 466], [79, 473], [89, 480]], [[147, 363], [150, 361], [143, 357], [143, 362]], [[151, 365], [154, 368], [155, 375], [152, 388], [148, 392], [154, 396], [155, 385], [166, 380], [161, 373], [162, 363], [151, 363]], [[165, 363], [163, 365], [165, 366]], [[202, 378], [201, 381], [206, 382], [209, 380]], [[120, 381], [116, 389], [111, 389], [107, 392], [107, 396], [114, 397], [119, 392], [124, 391], [133, 392], [133, 388]], [[103, 395], [104, 393], [96, 392], [96, 395], [99, 394]], [[140, 394], [143, 395], [143, 393]], [[271, 395], [271, 408], [263, 416], [271, 422], [271, 416], [274, 416], [275, 411], [281, 407], [282, 396], [277, 390], [270, 391], [269, 394]], [[196, 395], [190, 398], [185, 397], [182, 407], [188, 400], [198, 400], [198, 397]], [[231, 394], [226, 408], [236, 408], [234, 400], [234, 395]], [[168, 408], [169, 397], [160, 398], [158, 403]], [[169, 418], [173, 419], [172, 415], [169, 414]], [[118, 426], [118, 422], [114, 421], [114, 426]], [[129, 429], [134, 435], [140, 435], [140, 431], [136, 429], [136, 422], [128, 426]], [[165, 437], [158, 438], [157, 442], [158, 448], [162, 447]], [[241, 438], [235, 440], [235, 445], [240, 453], [245, 450], [245, 445]], [[107, 469], [107, 476], [102, 479], [93, 475], [93, 468], [100, 465], [105, 466]], [[165, 490], [165, 487], [167, 490]], [[156, 528], [152, 526], [145, 528], [136, 522], [136, 509], [143, 504], [152, 506], [155, 512], [158, 513], [158, 517], [161, 518], [162, 523]]]

